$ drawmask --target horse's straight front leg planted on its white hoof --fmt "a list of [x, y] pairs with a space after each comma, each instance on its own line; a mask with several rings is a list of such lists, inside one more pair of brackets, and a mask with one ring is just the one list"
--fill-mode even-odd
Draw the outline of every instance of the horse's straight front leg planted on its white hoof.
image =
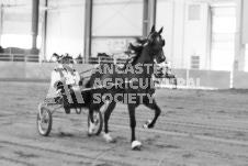
[[132, 150], [140, 151], [142, 143], [136, 141], [136, 137], [135, 137], [135, 126], [136, 126], [135, 108], [136, 108], [136, 104], [128, 104], [129, 125], [132, 131], [131, 142], [132, 142]]

